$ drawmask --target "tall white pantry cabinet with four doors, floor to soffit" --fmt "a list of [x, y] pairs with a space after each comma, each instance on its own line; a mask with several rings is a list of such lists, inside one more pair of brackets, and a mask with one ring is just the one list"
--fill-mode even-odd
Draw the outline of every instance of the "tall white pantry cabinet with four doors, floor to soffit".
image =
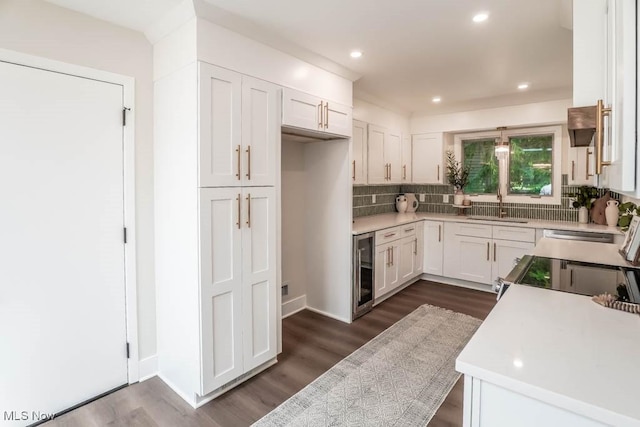
[[279, 95], [203, 62], [155, 84], [159, 371], [193, 406], [275, 362]]

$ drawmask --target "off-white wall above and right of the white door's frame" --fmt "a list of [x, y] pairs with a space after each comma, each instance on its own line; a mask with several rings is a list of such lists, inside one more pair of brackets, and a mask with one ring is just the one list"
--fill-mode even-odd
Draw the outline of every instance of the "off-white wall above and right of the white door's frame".
[[[153, 241], [152, 50], [135, 31], [39, 0], [0, 1], [0, 48], [136, 79], [138, 334], [141, 359], [156, 353]], [[70, 125], [72, 125], [70, 120]]]

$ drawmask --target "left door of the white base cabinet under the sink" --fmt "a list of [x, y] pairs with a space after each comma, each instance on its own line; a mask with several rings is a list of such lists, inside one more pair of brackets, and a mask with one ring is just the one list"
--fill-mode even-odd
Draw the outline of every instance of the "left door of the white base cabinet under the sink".
[[456, 265], [455, 278], [484, 284], [492, 283], [491, 279], [491, 240], [482, 237], [455, 236], [457, 253], [454, 254]]

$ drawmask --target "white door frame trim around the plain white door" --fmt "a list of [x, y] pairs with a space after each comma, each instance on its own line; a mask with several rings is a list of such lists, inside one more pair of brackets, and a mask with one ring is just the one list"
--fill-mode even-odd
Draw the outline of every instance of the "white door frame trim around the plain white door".
[[136, 282], [135, 79], [121, 74], [68, 64], [7, 49], [0, 49], [0, 61], [105, 83], [113, 83], [121, 85], [123, 88], [124, 106], [131, 108], [131, 110], [126, 113], [127, 125], [122, 128], [124, 155], [124, 226], [127, 228], [127, 243], [124, 245], [125, 321], [127, 327], [126, 339], [129, 343], [127, 377], [129, 384], [136, 383], [139, 380], [140, 373], [138, 350], [138, 293]]

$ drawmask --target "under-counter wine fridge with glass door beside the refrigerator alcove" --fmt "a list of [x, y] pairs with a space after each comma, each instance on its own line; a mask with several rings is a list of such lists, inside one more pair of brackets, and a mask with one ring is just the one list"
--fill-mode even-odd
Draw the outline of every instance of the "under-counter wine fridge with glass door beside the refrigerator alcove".
[[353, 237], [353, 310], [351, 319], [362, 316], [373, 307], [375, 233]]

